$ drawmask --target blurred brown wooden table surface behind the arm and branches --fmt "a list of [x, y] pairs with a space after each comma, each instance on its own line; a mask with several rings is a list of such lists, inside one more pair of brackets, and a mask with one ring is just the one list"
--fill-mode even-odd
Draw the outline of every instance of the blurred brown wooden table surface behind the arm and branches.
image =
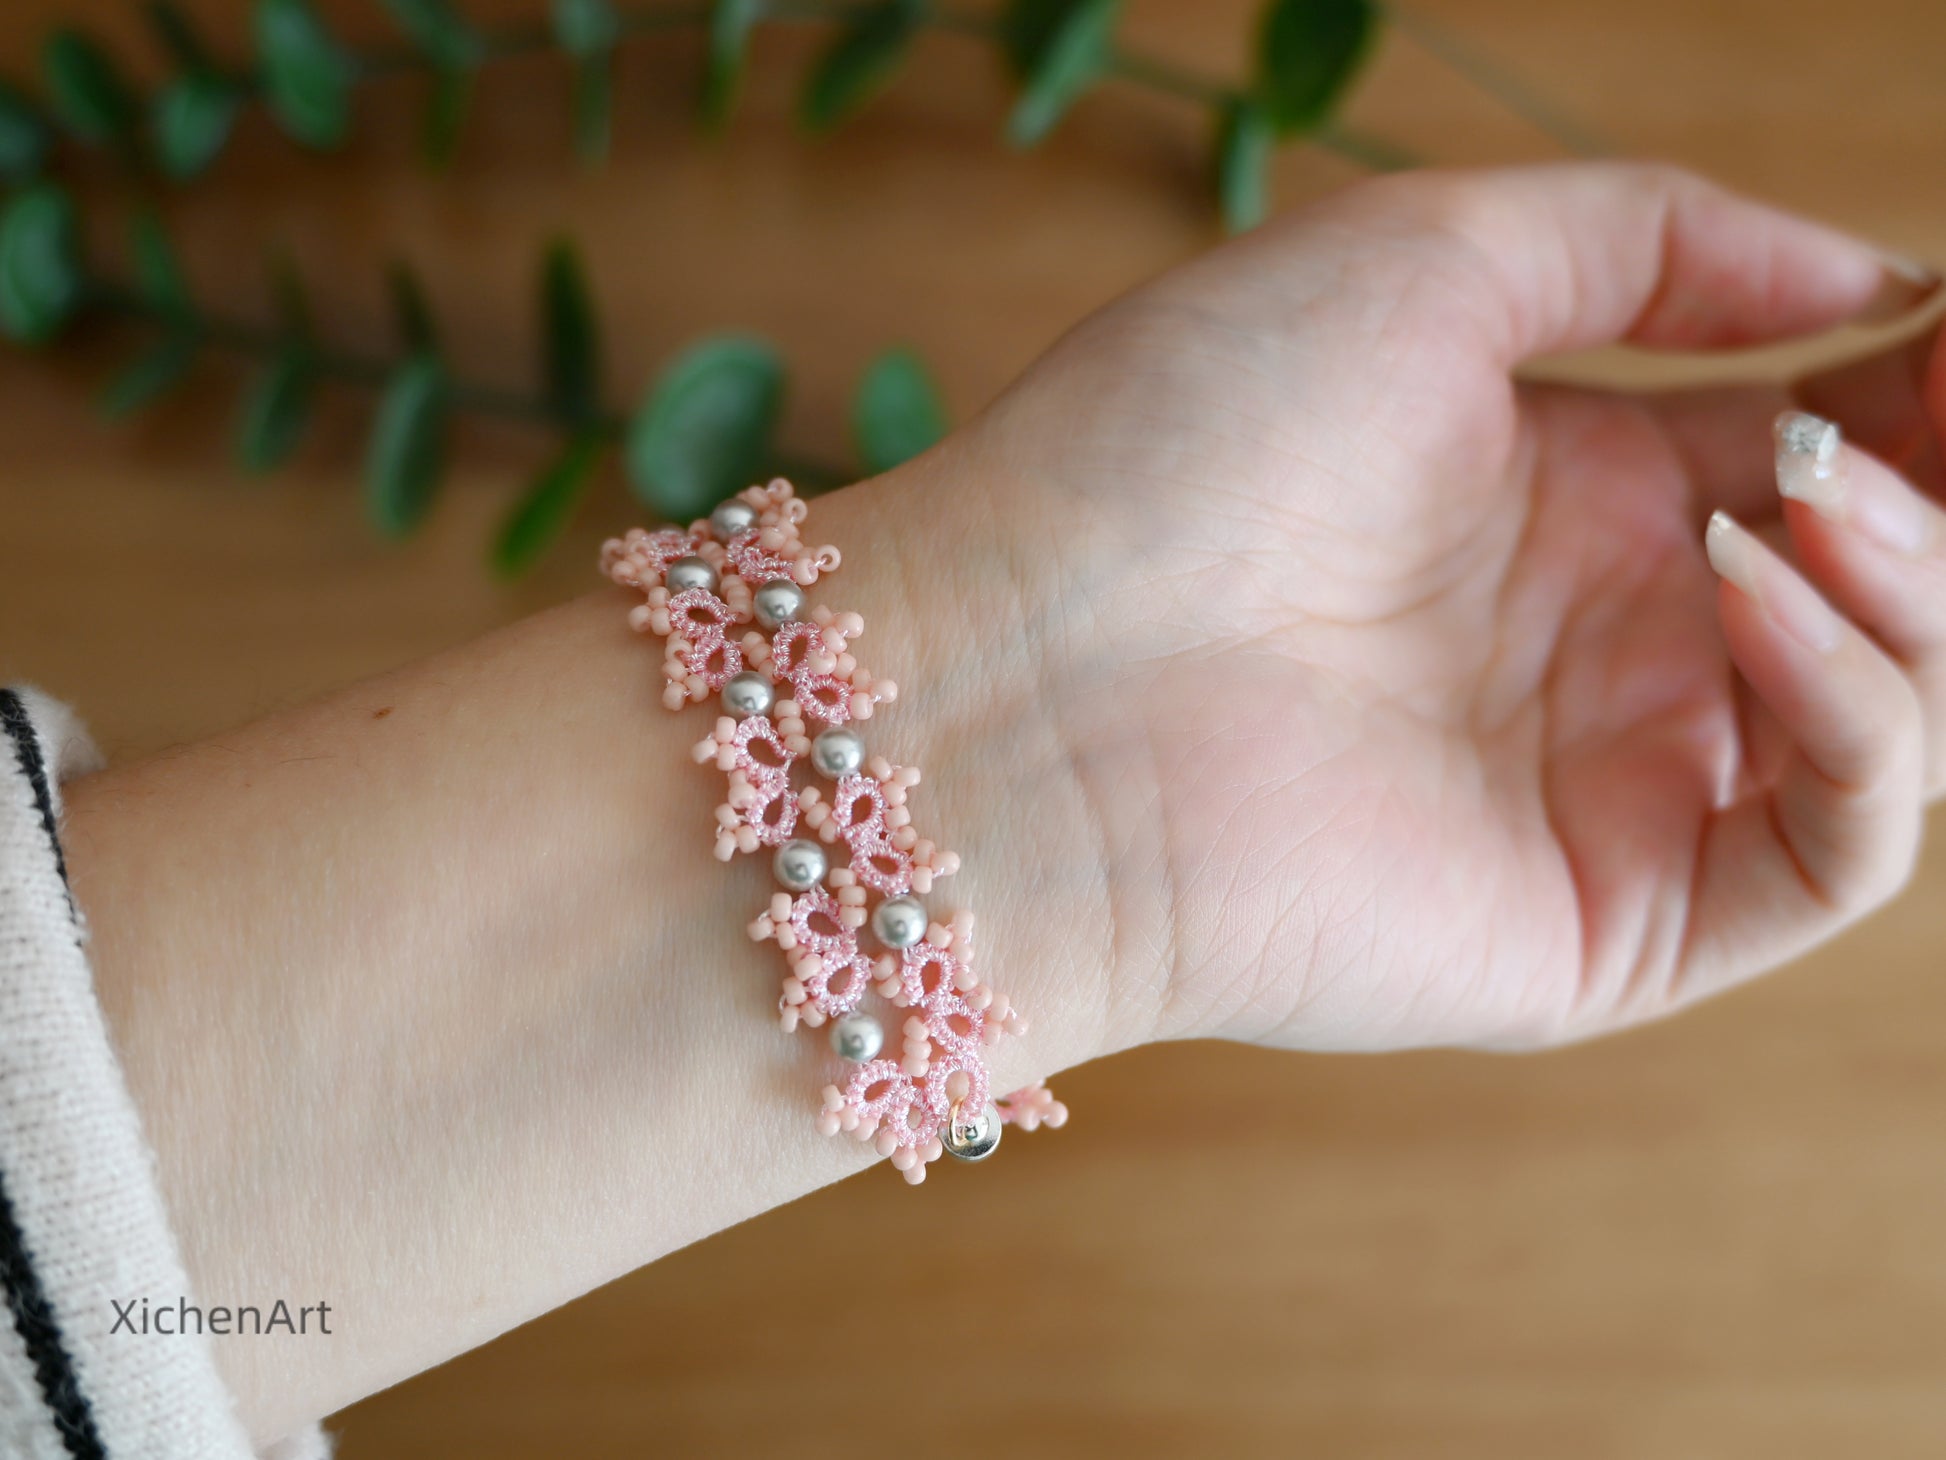
[[[193, 10], [241, 35], [243, 6]], [[1133, 0], [1127, 29], [1234, 68], [1249, 10]], [[1423, 10], [1631, 152], [1946, 259], [1938, 0]], [[62, 16], [148, 56], [132, 12], [12, 0], [0, 60], [23, 70]], [[333, 12], [381, 29], [370, 0]], [[790, 434], [825, 454], [883, 343], [919, 345], [965, 415], [1092, 306], [1212, 241], [1203, 123], [1179, 103], [1109, 91], [1014, 156], [994, 140], [994, 68], [946, 37], [866, 121], [810, 144], [784, 125], [806, 41], [763, 35], [747, 111], [718, 140], [687, 123], [695, 43], [632, 51], [599, 173], [568, 165], [562, 70], [539, 60], [483, 84], [450, 177], [414, 165], [401, 80], [372, 93], [348, 154], [300, 156], [257, 119], [167, 212], [198, 288], [239, 311], [267, 310], [257, 259], [288, 245], [346, 345], [383, 339], [383, 259], [416, 261], [455, 352], [504, 383], [533, 354], [535, 257], [572, 232], [617, 399], [699, 331], [763, 329], [800, 366]], [[1444, 162], [1553, 156], [1397, 35], [1352, 119]], [[1351, 175], [1300, 152], [1279, 191]], [[352, 487], [364, 401], [333, 397], [292, 471], [245, 481], [224, 457], [228, 368], [132, 426], [95, 419], [90, 393], [126, 347], [0, 356], [0, 674], [78, 703], [115, 753], [576, 594], [631, 516], [609, 479], [541, 572], [498, 588], [483, 543], [543, 442], [469, 430], [430, 531], [381, 547]], [[852, 1182], [726, 1232], [341, 1415], [342, 1454], [837, 1456], [872, 1439], [1119, 1460], [1938, 1456], [1942, 975], [1934, 835], [1868, 927], [1623, 1040], [1530, 1059], [1142, 1051], [1070, 1075], [1074, 1123], [979, 1180]], [[866, 1223], [909, 1230], [913, 1252], [998, 1232], [1010, 1259], [858, 1271]], [[806, 1355], [860, 1295], [922, 1298], [932, 1332], [981, 1355], [971, 1378], [940, 1378], [924, 1351], [821, 1372]]]

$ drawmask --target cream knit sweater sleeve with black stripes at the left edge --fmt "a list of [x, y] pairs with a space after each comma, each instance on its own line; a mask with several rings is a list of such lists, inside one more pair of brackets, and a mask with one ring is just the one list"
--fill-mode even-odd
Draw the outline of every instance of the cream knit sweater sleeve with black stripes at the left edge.
[[[0, 1454], [247, 1460], [208, 1341], [119, 1318], [195, 1295], [60, 853], [60, 783], [93, 761], [60, 705], [0, 689]], [[272, 1454], [329, 1446], [313, 1429]]]

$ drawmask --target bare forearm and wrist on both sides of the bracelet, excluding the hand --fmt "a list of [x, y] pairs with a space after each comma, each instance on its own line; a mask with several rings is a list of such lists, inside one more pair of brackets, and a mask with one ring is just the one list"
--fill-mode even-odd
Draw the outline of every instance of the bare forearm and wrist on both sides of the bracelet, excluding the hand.
[[[981, 514], [917, 487], [813, 508], [901, 699], [874, 751], [926, 771], [981, 967], [1031, 1020], [996, 1088], [1109, 1028], [1101, 849]], [[934, 502], [934, 498], [928, 498]], [[329, 1341], [218, 1361], [274, 1435], [671, 1248], [837, 1180], [831, 1055], [775, 1026], [743, 927], [763, 858], [710, 857], [710, 712], [603, 592], [315, 705], [74, 786], [76, 894], [198, 1296], [327, 1300]], [[887, 1201], [897, 1199], [887, 1189]], [[173, 1298], [173, 1295], [156, 1295]]]

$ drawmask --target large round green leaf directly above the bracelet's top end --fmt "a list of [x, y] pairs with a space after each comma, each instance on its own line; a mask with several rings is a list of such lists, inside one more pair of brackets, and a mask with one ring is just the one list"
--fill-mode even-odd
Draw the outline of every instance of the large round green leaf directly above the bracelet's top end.
[[691, 345], [629, 422], [634, 494], [671, 522], [703, 516], [761, 475], [782, 407], [775, 345], [749, 335]]

